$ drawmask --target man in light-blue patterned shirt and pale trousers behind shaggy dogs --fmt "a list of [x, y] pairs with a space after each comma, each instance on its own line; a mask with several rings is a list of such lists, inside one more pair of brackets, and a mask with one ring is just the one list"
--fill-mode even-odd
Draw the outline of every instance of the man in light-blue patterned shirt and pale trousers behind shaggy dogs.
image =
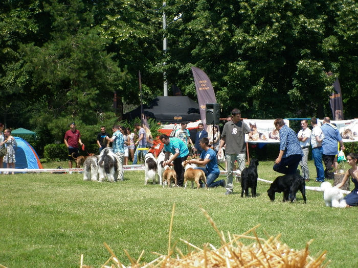
[[118, 181], [123, 181], [123, 158], [124, 158], [124, 139], [121, 131], [119, 130], [121, 127], [118, 125], [114, 125], [112, 127], [113, 135], [111, 138], [108, 138], [106, 136], [106, 140], [109, 142], [113, 142], [113, 152], [116, 155], [117, 158], [117, 165], [118, 165]]

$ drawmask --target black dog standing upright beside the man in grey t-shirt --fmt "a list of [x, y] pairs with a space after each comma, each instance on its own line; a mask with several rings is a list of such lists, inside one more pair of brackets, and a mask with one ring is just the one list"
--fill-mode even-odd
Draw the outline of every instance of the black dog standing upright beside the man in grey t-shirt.
[[252, 197], [256, 197], [256, 187], [257, 187], [257, 166], [259, 165], [259, 160], [251, 159], [250, 165], [244, 168], [241, 172], [241, 197], [243, 197], [243, 192], [245, 196], [249, 196], [249, 188], [251, 188]]

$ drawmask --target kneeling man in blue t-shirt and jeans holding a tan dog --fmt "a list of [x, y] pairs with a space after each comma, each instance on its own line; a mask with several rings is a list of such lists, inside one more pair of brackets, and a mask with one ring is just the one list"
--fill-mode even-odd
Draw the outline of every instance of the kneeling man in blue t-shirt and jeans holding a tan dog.
[[189, 164], [205, 165], [205, 167], [195, 167], [195, 169], [204, 171], [208, 187], [225, 187], [225, 180], [215, 181], [220, 175], [220, 169], [217, 165], [216, 153], [209, 147], [209, 139], [201, 138], [199, 144], [203, 152], [199, 159], [189, 160]]

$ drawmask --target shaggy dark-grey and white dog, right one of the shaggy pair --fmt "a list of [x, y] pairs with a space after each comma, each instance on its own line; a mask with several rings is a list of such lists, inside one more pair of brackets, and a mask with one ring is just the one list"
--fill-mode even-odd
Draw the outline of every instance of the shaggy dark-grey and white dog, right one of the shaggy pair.
[[106, 178], [109, 182], [117, 180], [117, 157], [112, 148], [103, 149], [99, 155], [98, 174], [100, 182], [103, 182]]

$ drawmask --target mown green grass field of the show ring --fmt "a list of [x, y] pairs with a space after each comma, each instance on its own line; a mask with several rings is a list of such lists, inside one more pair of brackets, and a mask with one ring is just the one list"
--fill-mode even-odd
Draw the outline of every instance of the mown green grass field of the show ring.
[[[45, 167], [67, 167], [44, 163]], [[259, 177], [273, 180], [278, 174], [272, 162], [260, 162]], [[309, 161], [311, 177], [316, 175]], [[123, 182], [84, 182], [82, 174], [0, 175], [0, 264], [14, 267], [78, 267], [84, 263], [100, 267], [110, 256], [106, 242], [119, 259], [129, 265], [123, 250], [133, 258], [145, 253], [141, 262], [156, 258], [151, 252], [167, 253], [170, 217], [176, 204], [172, 242], [184, 253], [180, 238], [198, 247], [219, 237], [199, 206], [213, 218], [225, 234], [256, 230], [282, 234], [281, 241], [301, 250], [310, 239], [311, 256], [327, 250], [328, 267], [358, 267], [357, 208], [334, 209], [324, 205], [322, 192], [301, 193], [297, 203], [283, 203], [282, 193], [270, 202], [269, 184], [258, 183], [257, 198], [240, 198], [240, 186], [232, 196], [222, 187], [212, 189], [162, 188], [144, 185], [144, 172], [126, 172]], [[221, 178], [221, 177], [220, 177]], [[225, 177], [222, 177], [225, 178]], [[310, 181], [310, 186], [319, 183]], [[252, 241], [247, 241], [251, 243]]]

